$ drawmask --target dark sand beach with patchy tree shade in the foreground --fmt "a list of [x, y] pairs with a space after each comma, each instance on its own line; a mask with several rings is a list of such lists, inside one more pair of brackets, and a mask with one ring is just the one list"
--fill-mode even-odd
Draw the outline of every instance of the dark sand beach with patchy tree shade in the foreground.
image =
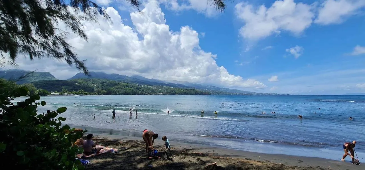
[[[229, 150], [170, 141], [171, 154], [176, 159], [167, 160], [165, 156], [158, 160], [149, 160], [145, 155], [145, 143], [142, 138], [130, 138], [115, 135], [96, 136], [97, 144], [119, 149], [120, 152], [104, 153], [88, 158], [92, 164], [88, 170], [199, 170], [205, 165], [217, 162], [216, 170], [362, 170], [364, 167], [330, 159], [296, 157], [278, 154]], [[165, 151], [163, 141], [155, 140], [154, 148]], [[339, 155], [341, 158], [341, 155]], [[361, 160], [360, 160], [361, 161]]]

